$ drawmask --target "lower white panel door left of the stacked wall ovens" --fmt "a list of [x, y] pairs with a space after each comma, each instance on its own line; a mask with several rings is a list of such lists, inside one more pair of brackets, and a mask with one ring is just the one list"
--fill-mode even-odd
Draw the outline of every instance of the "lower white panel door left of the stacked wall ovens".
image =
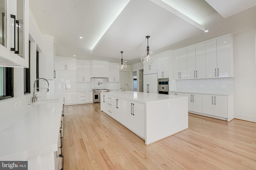
[[144, 92], [157, 93], [157, 74], [144, 74], [143, 81]]

